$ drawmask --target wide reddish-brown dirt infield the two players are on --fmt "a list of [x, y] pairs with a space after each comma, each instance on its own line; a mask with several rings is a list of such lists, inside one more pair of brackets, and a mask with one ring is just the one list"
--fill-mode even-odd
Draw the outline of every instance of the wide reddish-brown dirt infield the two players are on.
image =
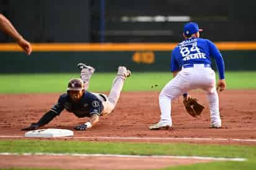
[[[137, 137], [144, 138], [144, 140], [141, 140], [142, 142], [256, 145], [256, 90], [226, 90], [219, 94], [222, 118], [221, 129], [209, 128], [210, 117], [206, 95], [201, 91], [193, 91], [190, 94], [197, 97], [199, 102], [206, 106], [206, 109], [199, 118], [194, 119], [186, 114], [181, 98], [173, 101], [171, 114], [173, 130], [149, 130], [149, 125], [158, 122], [160, 118], [158, 92], [123, 92], [116, 109], [111, 115], [101, 117], [99, 123], [89, 130], [75, 131], [75, 137], [91, 137], [78, 138], [77, 140], [140, 141], [123, 138]], [[0, 95], [0, 139], [11, 138], [8, 136], [24, 136], [24, 132], [20, 129], [27, 127], [31, 122], [37, 122], [57, 102], [59, 95]], [[43, 128], [73, 130], [75, 125], [84, 123], [86, 120], [78, 119], [75, 115], [63, 111], [59, 117]], [[97, 138], [98, 136], [116, 138]], [[150, 138], [155, 139], [151, 140]], [[170, 139], [161, 140], [161, 138]], [[184, 138], [184, 140], [180, 138]], [[185, 138], [191, 138], [191, 140], [185, 140]], [[193, 140], [193, 138], [210, 138], [213, 140]], [[226, 140], [214, 140], [215, 138]], [[69, 138], [68, 140], [76, 140], [76, 138]]]

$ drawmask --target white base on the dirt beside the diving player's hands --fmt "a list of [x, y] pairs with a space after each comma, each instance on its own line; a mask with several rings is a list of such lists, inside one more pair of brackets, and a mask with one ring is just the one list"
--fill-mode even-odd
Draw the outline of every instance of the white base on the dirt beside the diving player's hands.
[[60, 128], [45, 128], [38, 130], [31, 130], [25, 133], [25, 137], [39, 137], [39, 138], [54, 138], [62, 136], [73, 136], [74, 132], [67, 129]]

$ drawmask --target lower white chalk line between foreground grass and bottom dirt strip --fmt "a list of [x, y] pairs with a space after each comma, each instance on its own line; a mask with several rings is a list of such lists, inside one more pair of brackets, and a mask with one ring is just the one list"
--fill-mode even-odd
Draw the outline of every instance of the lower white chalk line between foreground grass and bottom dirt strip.
[[117, 157], [117, 158], [176, 158], [176, 159], [201, 159], [213, 161], [247, 161], [245, 158], [215, 158], [204, 156], [167, 156], [167, 155], [130, 155], [130, 154], [79, 154], [79, 153], [0, 153], [1, 156], [83, 156], [83, 157]]

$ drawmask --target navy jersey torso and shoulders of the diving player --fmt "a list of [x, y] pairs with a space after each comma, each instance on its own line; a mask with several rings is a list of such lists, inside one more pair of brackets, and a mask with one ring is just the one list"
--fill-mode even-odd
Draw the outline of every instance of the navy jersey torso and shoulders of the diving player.
[[77, 117], [90, 117], [92, 114], [100, 115], [103, 110], [102, 102], [91, 92], [86, 91], [80, 101], [71, 101], [68, 94], [62, 94], [58, 99], [58, 103], [52, 107], [52, 111], [60, 115], [62, 110], [68, 110]]

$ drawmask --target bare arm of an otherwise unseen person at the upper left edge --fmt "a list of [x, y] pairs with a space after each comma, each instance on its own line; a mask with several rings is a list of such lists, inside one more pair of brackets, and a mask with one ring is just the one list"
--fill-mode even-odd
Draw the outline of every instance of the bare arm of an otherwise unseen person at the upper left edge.
[[2, 14], [0, 14], [0, 29], [10, 35], [14, 40], [16, 40], [17, 44], [27, 53], [27, 55], [30, 55], [32, 52], [32, 47], [27, 40], [25, 40], [19, 32], [14, 28], [14, 26], [11, 24], [11, 22], [4, 17]]

